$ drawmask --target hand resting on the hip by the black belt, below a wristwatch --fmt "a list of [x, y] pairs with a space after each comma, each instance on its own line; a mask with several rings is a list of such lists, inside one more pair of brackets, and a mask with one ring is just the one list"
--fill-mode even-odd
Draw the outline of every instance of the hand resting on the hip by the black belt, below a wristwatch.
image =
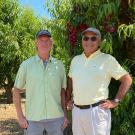
[[103, 109], [111, 109], [118, 106], [118, 103], [114, 102], [113, 100], [104, 100], [104, 103], [99, 105]]

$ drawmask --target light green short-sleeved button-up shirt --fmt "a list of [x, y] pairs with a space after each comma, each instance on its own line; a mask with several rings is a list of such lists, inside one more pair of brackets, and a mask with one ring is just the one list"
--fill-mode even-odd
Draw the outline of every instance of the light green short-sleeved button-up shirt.
[[66, 74], [60, 60], [50, 56], [46, 66], [38, 55], [24, 61], [14, 87], [26, 89], [26, 118], [44, 120], [63, 116], [61, 88], [66, 88]]

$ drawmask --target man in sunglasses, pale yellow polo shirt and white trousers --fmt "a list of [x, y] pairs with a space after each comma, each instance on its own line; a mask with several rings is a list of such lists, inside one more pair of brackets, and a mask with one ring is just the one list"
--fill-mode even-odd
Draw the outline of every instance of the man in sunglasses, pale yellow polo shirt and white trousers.
[[[73, 58], [68, 77], [67, 102], [73, 91], [73, 135], [110, 135], [110, 108], [116, 107], [132, 79], [116, 59], [102, 53], [100, 31], [88, 28], [82, 33], [84, 52]], [[121, 82], [114, 100], [108, 100], [111, 78]]]

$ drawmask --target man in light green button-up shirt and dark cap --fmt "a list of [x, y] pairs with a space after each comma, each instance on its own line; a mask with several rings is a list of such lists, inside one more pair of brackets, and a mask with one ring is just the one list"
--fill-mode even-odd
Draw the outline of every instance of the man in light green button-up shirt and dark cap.
[[[19, 124], [25, 135], [63, 135], [67, 126], [65, 106], [66, 74], [60, 60], [50, 55], [50, 32], [36, 35], [37, 55], [25, 60], [19, 68], [13, 88]], [[26, 117], [21, 108], [20, 91], [26, 90]]]

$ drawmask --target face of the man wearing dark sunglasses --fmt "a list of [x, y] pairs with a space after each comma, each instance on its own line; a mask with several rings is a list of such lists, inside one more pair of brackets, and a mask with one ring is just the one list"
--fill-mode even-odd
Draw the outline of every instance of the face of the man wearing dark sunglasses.
[[100, 44], [100, 38], [93, 32], [86, 32], [82, 37], [82, 46], [84, 52], [94, 53]]

